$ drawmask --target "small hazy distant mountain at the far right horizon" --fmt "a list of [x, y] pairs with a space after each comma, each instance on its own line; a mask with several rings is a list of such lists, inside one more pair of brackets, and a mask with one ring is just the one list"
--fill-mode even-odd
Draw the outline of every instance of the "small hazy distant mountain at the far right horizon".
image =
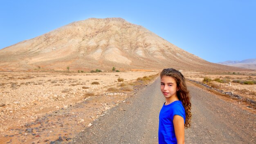
[[219, 62], [218, 64], [224, 64], [229, 66], [236, 66], [244, 69], [256, 69], [256, 58], [254, 59], [246, 59], [242, 61], [225, 61], [225, 62]]

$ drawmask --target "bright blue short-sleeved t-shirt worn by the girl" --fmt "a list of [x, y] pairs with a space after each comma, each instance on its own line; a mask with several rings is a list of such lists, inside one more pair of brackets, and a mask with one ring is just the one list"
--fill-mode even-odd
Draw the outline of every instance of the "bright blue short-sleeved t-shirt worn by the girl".
[[174, 101], [168, 105], [163, 105], [160, 111], [158, 128], [159, 144], [177, 144], [173, 126], [174, 115], [183, 117], [185, 124], [186, 113], [180, 100]]

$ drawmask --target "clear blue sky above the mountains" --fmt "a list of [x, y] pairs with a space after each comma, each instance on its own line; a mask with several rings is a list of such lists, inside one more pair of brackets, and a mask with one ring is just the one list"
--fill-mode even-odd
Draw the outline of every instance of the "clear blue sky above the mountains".
[[112, 17], [209, 62], [256, 58], [256, 0], [0, 0], [0, 49], [74, 21]]

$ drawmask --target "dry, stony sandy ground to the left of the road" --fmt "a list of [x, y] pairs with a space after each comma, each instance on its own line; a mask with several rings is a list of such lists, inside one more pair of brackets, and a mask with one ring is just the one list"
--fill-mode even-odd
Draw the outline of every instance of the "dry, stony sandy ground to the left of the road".
[[[156, 73], [1, 72], [0, 143], [40, 143], [63, 135], [72, 137], [105, 111], [125, 102], [132, 86], [120, 87], [118, 78], [128, 84]], [[119, 90], [109, 92], [109, 87]]]

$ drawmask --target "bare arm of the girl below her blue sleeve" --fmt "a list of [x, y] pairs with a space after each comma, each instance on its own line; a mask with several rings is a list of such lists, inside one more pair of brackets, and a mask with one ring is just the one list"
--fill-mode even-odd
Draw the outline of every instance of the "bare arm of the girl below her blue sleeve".
[[180, 115], [173, 116], [173, 126], [177, 139], [177, 144], [185, 144], [184, 119]]

